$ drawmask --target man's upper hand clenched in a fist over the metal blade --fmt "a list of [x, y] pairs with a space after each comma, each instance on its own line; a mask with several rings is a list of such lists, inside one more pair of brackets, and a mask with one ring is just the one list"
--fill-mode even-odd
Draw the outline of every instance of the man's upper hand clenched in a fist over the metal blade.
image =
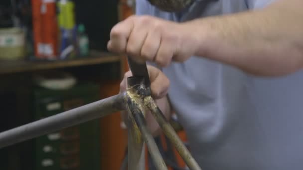
[[172, 60], [185, 61], [198, 50], [193, 32], [186, 24], [131, 16], [112, 28], [108, 49], [128, 54], [137, 62], [153, 61], [165, 67]]

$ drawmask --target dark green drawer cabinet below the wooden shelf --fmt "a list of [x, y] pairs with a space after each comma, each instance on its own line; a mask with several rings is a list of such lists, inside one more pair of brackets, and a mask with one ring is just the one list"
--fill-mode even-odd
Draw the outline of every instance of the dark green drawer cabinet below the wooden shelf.
[[[34, 90], [35, 119], [45, 118], [100, 99], [93, 83], [68, 90]], [[35, 139], [36, 170], [100, 170], [100, 124], [93, 120]]]

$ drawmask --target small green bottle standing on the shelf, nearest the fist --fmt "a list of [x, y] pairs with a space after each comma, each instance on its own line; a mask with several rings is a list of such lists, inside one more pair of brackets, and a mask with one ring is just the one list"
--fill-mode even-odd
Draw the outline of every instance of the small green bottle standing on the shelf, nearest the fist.
[[78, 48], [80, 56], [88, 56], [89, 39], [85, 33], [85, 26], [83, 24], [79, 24], [78, 26]]

